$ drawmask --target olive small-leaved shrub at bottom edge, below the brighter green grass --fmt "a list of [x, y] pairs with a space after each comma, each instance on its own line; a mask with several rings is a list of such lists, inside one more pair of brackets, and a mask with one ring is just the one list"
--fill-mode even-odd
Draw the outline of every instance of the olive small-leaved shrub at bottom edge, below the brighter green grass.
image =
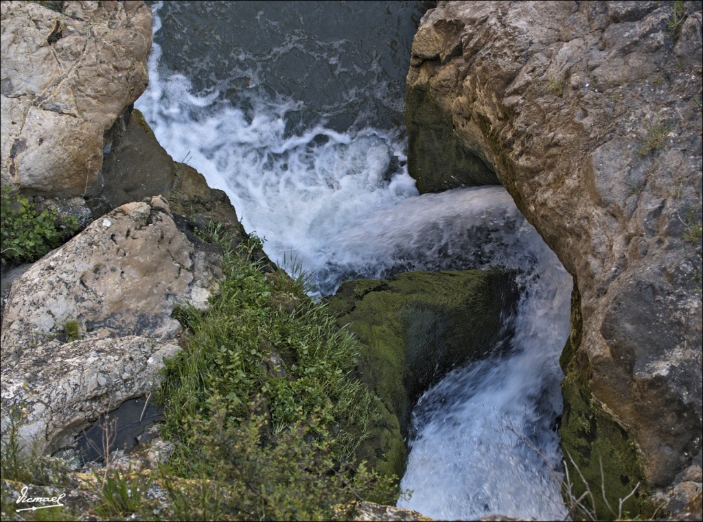
[[212, 417], [198, 417], [191, 425], [197, 441], [188, 462], [192, 480], [178, 488], [167, 485], [175, 516], [331, 520], [352, 509], [355, 500], [394, 501], [393, 481], [335, 456], [330, 439], [319, 435], [327, 431], [321, 412], [272, 434], [266, 413], [237, 421], [226, 401], [214, 398], [213, 406]]

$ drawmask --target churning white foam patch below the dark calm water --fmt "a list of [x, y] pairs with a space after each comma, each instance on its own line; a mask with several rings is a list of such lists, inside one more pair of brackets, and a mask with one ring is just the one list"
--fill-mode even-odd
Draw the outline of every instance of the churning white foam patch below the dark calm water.
[[240, 108], [217, 91], [197, 96], [188, 78], [159, 67], [160, 56], [155, 43], [150, 85], [136, 107], [176, 161], [187, 159], [227, 193], [274, 262], [315, 273], [340, 228], [417, 194], [402, 167], [404, 145], [389, 131], [340, 133], [320, 122], [291, 132], [287, 115], [301, 103], [250, 91]]

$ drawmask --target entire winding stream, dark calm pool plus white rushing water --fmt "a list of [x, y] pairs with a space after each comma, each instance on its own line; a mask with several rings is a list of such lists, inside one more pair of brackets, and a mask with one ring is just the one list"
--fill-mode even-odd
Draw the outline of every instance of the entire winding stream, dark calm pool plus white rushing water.
[[519, 269], [512, 349], [420, 399], [402, 483], [414, 492], [399, 504], [435, 518], [553, 518], [564, 511], [553, 424], [571, 280], [503, 188], [418, 195], [403, 100], [427, 7], [156, 3], [150, 86], [136, 106], [317, 294], [403, 270]]

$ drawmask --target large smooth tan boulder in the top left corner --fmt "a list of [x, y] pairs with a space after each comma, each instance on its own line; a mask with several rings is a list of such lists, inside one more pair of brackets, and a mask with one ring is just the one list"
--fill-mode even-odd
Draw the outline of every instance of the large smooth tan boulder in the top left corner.
[[0, 15], [2, 186], [54, 197], [99, 191], [103, 133], [146, 89], [150, 8], [65, 1], [60, 13], [4, 1]]

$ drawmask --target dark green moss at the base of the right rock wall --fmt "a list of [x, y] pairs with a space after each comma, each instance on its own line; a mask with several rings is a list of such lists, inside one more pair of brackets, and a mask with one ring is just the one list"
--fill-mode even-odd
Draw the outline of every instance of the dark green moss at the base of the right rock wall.
[[[574, 285], [572, 334], [560, 360], [565, 378], [559, 433], [572, 483], [571, 495], [565, 492], [565, 502], [570, 505], [581, 497], [586, 492], [583, 483], [586, 481], [593, 494], [583, 500], [586, 509], [595, 511], [597, 520], [612, 520], [619, 515], [619, 500], [628, 497], [639, 483], [636, 492], [624, 502], [622, 515], [647, 518], [652, 515], [653, 507], [637, 445], [588, 389], [588, 362], [579, 352], [582, 326], [581, 299]], [[579, 520], [588, 518], [586, 512], [578, 509], [572, 516]]]

